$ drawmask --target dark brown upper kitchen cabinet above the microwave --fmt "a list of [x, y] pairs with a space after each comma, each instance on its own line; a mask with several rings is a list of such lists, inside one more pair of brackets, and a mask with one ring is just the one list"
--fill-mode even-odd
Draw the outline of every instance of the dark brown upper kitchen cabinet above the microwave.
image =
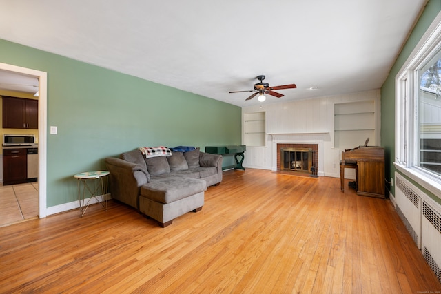
[[3, 129], [38, 129], [39, 101], [17, 97], [3, 98]]

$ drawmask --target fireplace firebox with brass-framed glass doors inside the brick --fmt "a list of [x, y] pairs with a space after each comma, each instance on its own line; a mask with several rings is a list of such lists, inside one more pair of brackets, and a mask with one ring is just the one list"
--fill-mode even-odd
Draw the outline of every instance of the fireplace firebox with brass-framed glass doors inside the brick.
[[312, 154], [311, 148], [280, 148], [280, 170], [309, 173], [312, 167]]

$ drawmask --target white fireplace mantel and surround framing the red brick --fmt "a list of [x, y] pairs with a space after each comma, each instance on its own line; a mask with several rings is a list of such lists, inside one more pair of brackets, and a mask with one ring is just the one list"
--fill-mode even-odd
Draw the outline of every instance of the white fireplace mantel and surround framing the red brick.
[[316, 144], [318, 145], [318, 167], [317, 175], [325, 176], [324, 172], [324, 146], [323, 141], [329, 132], [309, 132], [309, 133], [270, 133], [271, 136], [271, 170], [277, 171], [277, 144]]

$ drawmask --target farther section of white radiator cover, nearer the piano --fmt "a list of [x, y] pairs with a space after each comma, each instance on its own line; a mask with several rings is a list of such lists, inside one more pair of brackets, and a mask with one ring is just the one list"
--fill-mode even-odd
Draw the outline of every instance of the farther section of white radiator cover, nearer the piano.
[[422, 191], [408, 180], [395, 174], [396, 211], [418, 249], [421, 249]]

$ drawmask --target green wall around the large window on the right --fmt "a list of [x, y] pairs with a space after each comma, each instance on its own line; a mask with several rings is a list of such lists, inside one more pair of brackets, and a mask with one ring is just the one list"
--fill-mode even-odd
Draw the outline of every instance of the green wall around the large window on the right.
[[[424, 12], [422, 12], [418, 23], [416, 23], [415, 28], [413, 28], [409, 39], [403, 46], [402, 51], [389, 72], [389, 76], [387, 76], [381, 88], [381, 144], [386, 153], [387, 164], [385, 176], [387, 179], [390, 179], [393, 177], [393, 174], [395, 174], [395, 167], [393, 166], [393, 160], [395, 158], [395, 77], [440, 11], [440, 0], [428, 1]], [[417, 185], [416, 182], [413, 182], [413, 184]], [[423, 189], [419, 185], [417, 186], [422, 189], [422, 191], [426, 191], [431, 195], [426, 189]], [[391, 193], [395, 195], [395, 186], [389, 188]]]

